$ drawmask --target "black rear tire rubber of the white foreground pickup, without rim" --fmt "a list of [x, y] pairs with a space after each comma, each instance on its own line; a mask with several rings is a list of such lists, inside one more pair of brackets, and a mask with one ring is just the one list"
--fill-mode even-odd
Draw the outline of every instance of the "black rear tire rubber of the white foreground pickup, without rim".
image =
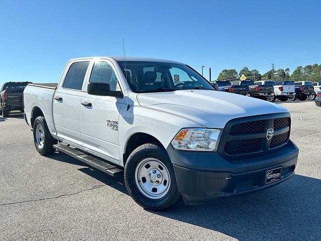
[[[43, 132], [44, 132], [44, 144], [42, 147], [39, 147], [36, 141], [36, 131], [37, 131], [37, 126], [41, 125]], [[57, 140], [54, 139], [48, 129], [45, 117], [43, 116], [38, 116], [35, 119], [34, 126], [33, 126], [33, 133], [34, 133], [34, 143], [35, 143], [35, 148], [37, 152], [39, 152], [40, 155], [45, 156], [52, 154], [56, 151], [56, 149], [53, 148], [53, 145], [57, 144]]]

